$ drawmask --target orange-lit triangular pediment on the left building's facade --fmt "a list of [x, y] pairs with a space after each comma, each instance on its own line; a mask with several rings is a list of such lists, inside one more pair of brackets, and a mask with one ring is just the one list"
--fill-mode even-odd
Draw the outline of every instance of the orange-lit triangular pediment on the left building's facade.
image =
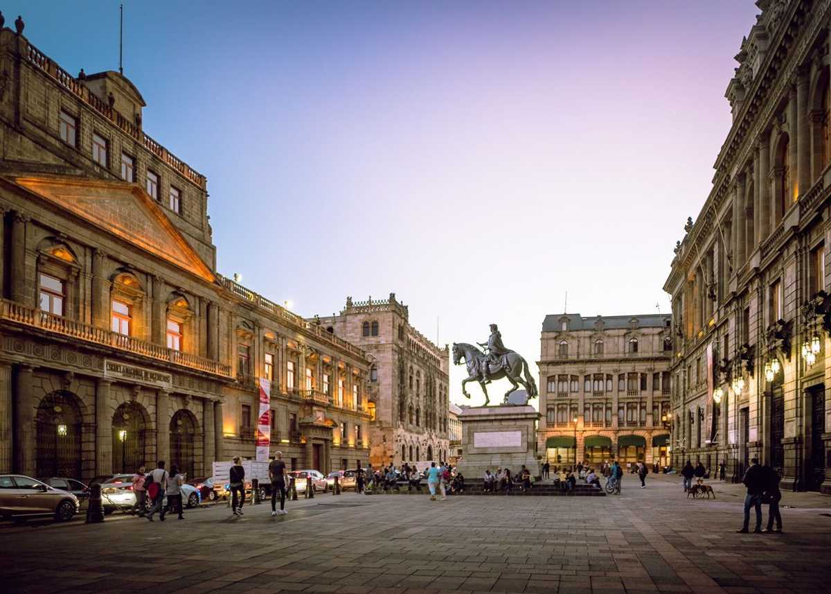
[[214, 272], [139, 186], [72, 177], [14, 177], [31, 191], [132, 245], [183, 270], [214, 281]]

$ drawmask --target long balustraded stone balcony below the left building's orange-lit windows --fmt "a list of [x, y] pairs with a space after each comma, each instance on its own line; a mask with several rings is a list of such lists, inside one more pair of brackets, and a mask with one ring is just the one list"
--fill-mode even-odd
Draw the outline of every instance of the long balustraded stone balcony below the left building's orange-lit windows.
[[155, 361], [164, 361], [165, 363], [196, 369], [208, 374], [221, 375], [224, 378], [232, 377], [230, 365], [219, 363], [213, 359], [205, 359], [194, 354], [168, 349], [132, 336], [125, 336], [108, 329], [65, 318], [62, 315], [49, 314], [42, 311], [42, 309], [35, 309], [7, 299], [0, 299], [0, 320], [14, 322], [28, 328], [40, 329], [50, 334], [60, 334], [91, 344], [99, 344]]

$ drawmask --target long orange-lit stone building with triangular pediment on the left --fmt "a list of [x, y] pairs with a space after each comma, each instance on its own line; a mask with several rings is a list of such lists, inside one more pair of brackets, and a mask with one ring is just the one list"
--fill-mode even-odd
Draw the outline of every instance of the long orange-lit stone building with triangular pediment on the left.
[[366, 354], [216, 274], [205, 177], [144, 106], [0, 29], [0, 473], [209, 474], [253, 456], [269, 374], [273, 448], [366, 462]]

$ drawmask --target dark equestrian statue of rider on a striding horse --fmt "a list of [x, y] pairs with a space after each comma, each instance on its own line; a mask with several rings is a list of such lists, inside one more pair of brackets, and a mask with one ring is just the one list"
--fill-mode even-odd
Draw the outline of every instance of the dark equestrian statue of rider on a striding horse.
[[525, 387], [529, 398], [538, 396], [537, 384], [529, 372], [528, 363], [513, 350], [505, 348], [502, 344], [502, 334], [496, 324], [490, 324], [488, 342], [477, 344], [484, 348], [484, 352], [473, 344], [453, 343], [453, 364], [459, 365], [461, 360], [465, 359], [467, 365], [468, 378], [462, 380], [462, 394], [470, 398], [465, 384], [479, 382], [484, 393], [484, 405], [487, 406], [490, 398], [485, 385], [490, 384], [492, 379], [508, 378], [511, 389], [505, 393], [504, 403], [508, 403], [508, 397], [519, 389], [519, 384]]

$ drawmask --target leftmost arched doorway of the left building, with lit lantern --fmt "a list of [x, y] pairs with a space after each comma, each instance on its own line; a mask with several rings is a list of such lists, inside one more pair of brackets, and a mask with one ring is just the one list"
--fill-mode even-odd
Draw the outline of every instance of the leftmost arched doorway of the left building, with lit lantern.
[[36, 474], [81, 479], [81, 409], [71, 392], [47, 394], [37, 405]]

